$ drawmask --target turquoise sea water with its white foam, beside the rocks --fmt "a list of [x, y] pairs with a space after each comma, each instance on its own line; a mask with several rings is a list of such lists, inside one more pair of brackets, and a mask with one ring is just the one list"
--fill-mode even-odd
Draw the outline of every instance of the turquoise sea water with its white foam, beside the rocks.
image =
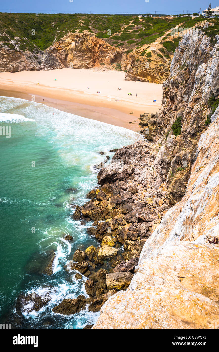
[[[20, 293], [36, 292], [49, 295], [50, 301], [39, 312], [24, 314], [21, 328], [82, 328], [99, 313], [85, 310], [65, 317], [51, 312], [64, 298], [85, 294], [84, 284], [63, 266], [76, 248], [95, 244], [86, 234], [91, 224], [73, 221], [69, 203], [82, 204], [97, 185], [91, 165], [105, 159], [98, 151], [112, 156], [109, 149], [131, 144], [140, 135], [23, 99], [0, 97], [0, 111], [0, 126], [11, 127], [11, 138], [0, 136], [2, 319]], [[67, 233], [72, 244], [64, 240]], [[52, 249], [53, 274], [42, 275], [44, 254]]]

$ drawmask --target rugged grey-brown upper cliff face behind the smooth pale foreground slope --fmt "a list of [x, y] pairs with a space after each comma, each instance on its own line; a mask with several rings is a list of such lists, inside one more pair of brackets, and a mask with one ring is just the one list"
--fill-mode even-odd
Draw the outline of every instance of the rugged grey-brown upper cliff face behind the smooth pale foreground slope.
[[[218, 40], [219, 36], [216, 38]], [[185, 35], [176, 48], [170, 76], [163, 84], [158, 138], [173, 134], [175, 121], [181, 121], [182, 125], [181, 133], [175, 138], [176, 146], [169, 160], [167, 177], [173, 204], [185, 194], [200, 135], [207, 128], [218, 103], [218, 43], [213, 48], [211, 39], [201, 31]], [[161, 153], [165, 152], [165, 146], [162, 149]]]

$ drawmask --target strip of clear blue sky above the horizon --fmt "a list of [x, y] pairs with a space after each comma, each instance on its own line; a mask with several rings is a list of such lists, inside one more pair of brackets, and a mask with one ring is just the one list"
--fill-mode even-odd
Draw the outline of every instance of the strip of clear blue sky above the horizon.
[[[0, 12], [36, 13], [193, 13], [205, 10], [209, 1], [204, 0], [0, 0]], [[211, 3], [212, 8], [219, 5]]]

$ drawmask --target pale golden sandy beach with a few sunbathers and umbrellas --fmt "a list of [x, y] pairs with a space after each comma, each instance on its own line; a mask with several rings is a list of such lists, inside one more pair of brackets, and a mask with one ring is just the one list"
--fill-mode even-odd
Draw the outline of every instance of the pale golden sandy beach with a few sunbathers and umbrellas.
[[160, 108], [162, 84], [124, 81], [124, 76], [124, 72], [94, 68], [2, 72], [0, 94], [44, 100], [66, 112], [139, 131], [139, 115]]

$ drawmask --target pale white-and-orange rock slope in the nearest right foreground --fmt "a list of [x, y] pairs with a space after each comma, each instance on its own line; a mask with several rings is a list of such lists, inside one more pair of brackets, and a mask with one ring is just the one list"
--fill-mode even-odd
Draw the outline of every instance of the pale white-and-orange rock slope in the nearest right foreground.
[[98, 329], [209, 329], [219, 316], [219, 108], [201, 135], [187, 191], [146, 241], [127, 291]]

